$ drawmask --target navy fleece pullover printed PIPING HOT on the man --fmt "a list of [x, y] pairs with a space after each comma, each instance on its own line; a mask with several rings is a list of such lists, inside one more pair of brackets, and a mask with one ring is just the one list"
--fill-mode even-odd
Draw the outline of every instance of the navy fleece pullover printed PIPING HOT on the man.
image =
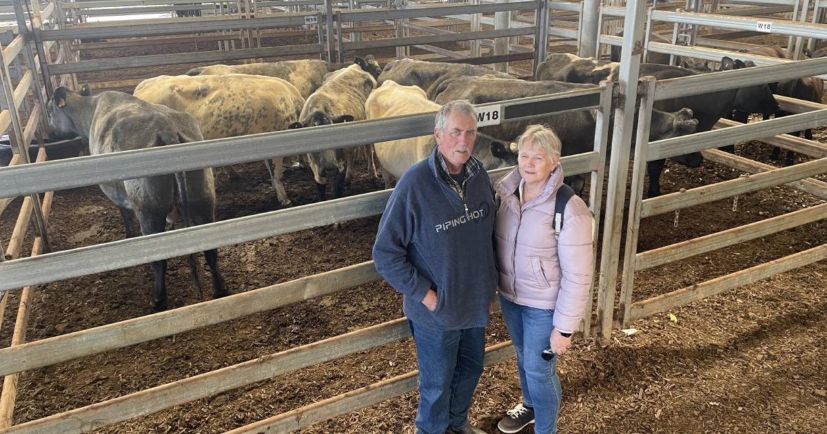
[[[457, 193], [441, 174], [440, 156], [435, 148], [396, 184], [376, 233], [375, 267], [404, 295], [409, 320], [442, 331], [486, 327], [498, 278], [494, 188], [471, 156], [465, 192]], [[422, 303], [431, 288], [434, 312]]]

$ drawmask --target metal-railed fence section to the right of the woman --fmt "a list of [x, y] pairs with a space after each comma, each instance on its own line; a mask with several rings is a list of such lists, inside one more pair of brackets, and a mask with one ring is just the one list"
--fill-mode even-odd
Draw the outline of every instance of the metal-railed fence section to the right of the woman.
[[[642, 26], [643, 14], [632, 7], [626, 11], [627, 29], [633, 28], [635, 35], [624, 35], [624, 62], [629, 57], [639, 56], [640, 52], [627, 54], [627, 50], [637, 41], [643, 39]], [[654, 11], [655, 14], [661, 12]], [[704, 17], [701, 21], [699, 16], [707, 14], [679, 14], [681, 20], [691, 23], [711, 22], [710, 17]], [[657, 15], [657, 17], [675, 17], [671, 13]], [[720, 18], [722, 21], [732, 20], [731, 17]], [[746, 20], [750, 21], [750, 20]], [[718, 21], [716, 21], [718, 22]], [[788, 31], [800, 31], [793, 26], [804, 26], [801, 24], [787, 25]], [[787, 27], [782, 27], [786, 29]], [[637, 69], [635, 62], [622, 63], [621, 71], [631, 74], [632, 69]], [[657, 81], [652, 78], [644, 79], [643, 87], [640, 89], [641, 103], [638, 114], [638, 136], [634, 147], [632, 188], [629, 193], [629, 218], [626, 227], [626, 243], [624, 247], [623, 268], [621, 274], [621, 290], [619, 295], [619, 311], [614, 314], [614, 285], [616, 269], [619, 259], [619, 240], [622, 227], [614, 217], [606, 217], [606, 222], [612, 222], [605, 226], [603, 260], [601, 261], [601, 279], [599, 289], [598, 312], [602, 312], [601, 339], [606, 341], [612, 329], [612, 319], [617, 327], [627, 327], [629, 322], [642, 317], [652, 315], [656, 312], [664, 312], [671, 308], [683, 306], [702, 298], [710, 297], [727, 289], [732, 289], [743, 284], [749, 284], [760, 279], [777, 274], [788, 269], [794, 269], [812, 262], [827, 258], [827, 244], [816, 246], [809, 250], [788, 255], [783, 258], [772, 260], [766, 264], [757, 265], [749, 269], [727, 274], [716, 279], [693, 284], [683, 289], [676, 289], [671, 293], [658, 295], [647, 300], [633, 302], [634, 273], [637, 270], [649, 269], [657, 265], [672, 263], [692, 255], [700, 255], [711, 250], [717, 250], [725, 246], [732, 246], [736, 243], [752, 240], [758, 236], [765, 236], [776, 233], [790, 227], [800, 226], [806, 223], [815, 222], [825, 218], [825, 207], [819, 205], [805, 210], [788, 213], [781, 217], [773, 217], [761, 222], [751, 223], [743, 227], [735, 227], [708, 236], [701, 236], [688, 241], [682, 241], [672, 246], [663, 246], [655, 250], [638, 253], [638, 230], [640, 220], [643, 217], [651, 217], [664, 212], [679, 212], [681, 208], [691, 207], [700, 203], [708, 203], [721, 198], [737, 197], [741, 193], [755, 191], [759, 188], [770, 186], [792, 184], [792, 187], [799, 188], [808, 193], [815, 193], [821, 198], [827, 198], [827, 183], [808, 179], [815, 174], [827, 173], [827, 146], [815, 142], [807, 145], [820, 150], [814, 153], [819, 160], [810, 161], [803, 165], [796, 165], [790, 168], [778, 169], [772, 166], [761, 165], [743, 157], [729, 156], [719, 150], [714, 150], [723, 145], [734, 145], [735, 143], [762, 139], [769, 136], [777, 136], [787, 131], [800, 131], [807, 128], [827, 125], [827, 106], [810, 103], [817, 108], [815, 111], [796, 114], [789, 117], [782, 117], [770, 121], [756, 122], [748, 125], [732, 126], [715, 131], [706, 131], [691, 136], [681, 136], [672, 139], [648, 142], [648, 134], [641, 132], [641, 127], [647, 125], [651, 116], [653, 103], [658, 100], [681, 98], [699, 93], [710, 93], [730, 88], [743, 88], [762, 83], [771, 83], [781, 79], [796, 79], [817, 74], [827, 73], [827, 59], [805, 60], [796, 63], [777, 64], [771, 66], [760, 66], [750, 69], [739, 69], [724, 71], [712, 74], [695, 75], [677, 79], [665, 79]], [[630, 93], [638, 93], [637, 88], [627, 86]], [[790, 108], [790, 104], [786, 103]], [[809, 110], [813, 108], [808, 107]], [[729, 123], [729, 125], [735, 122]], [[727, 125], [725, 123], [724, 125]], [[643, 127], [647, 130], [648, 126]], [[781, 137], [783, 139], [783, 137]], [[614, 143], [613, 145], [617, 145]], [[705, 158], [726, 165], [732, 165], [739, 169], [746, 170], [754, 176], [725, 181], [719, 184], [710, 184], [699, 188], [681, 191], [679, 193], [667, 194], [657, 198], [643, 200], [643, 179], [646, 174], [648, 161], [661, 160], [675, 155], [683, 155], [693, 151], [703, 151]], [[624, 201], [624, 191], [618, 183], [625, 185], [626, 171], [629, 165], [628, 154], [615, 159], [615, 151], [612, 154], [612, 174], [609, 176], [609, 199], [614, 207]], [[758, 174], [760, 173], [760, 174]], [[611, 196], [611, 192], [619, 192]], [[618, 202], [619, 201], [619, 202]], [[618, 255], [618, 256], [613, 256]]]

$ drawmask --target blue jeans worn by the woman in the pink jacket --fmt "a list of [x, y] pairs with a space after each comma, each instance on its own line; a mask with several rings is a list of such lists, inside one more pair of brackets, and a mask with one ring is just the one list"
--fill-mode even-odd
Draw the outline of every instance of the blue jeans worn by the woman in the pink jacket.
[[517, 352], [519, 384], [523, 389], [523, 406], [534, 408], [534, 432], [557, 432], [562, 389], [557, 377], [557, 357], [543, 360], [552, 335], [554, 310], [529, 308], [511, 303], [500, 295], [505, 327], [509, 329]]

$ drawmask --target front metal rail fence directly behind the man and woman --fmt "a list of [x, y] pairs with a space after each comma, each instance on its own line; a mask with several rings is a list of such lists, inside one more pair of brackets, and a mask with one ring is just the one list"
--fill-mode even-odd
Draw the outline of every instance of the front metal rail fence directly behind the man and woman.
[[[544, 116], [553, 112], [594, 109], [598, 111], [594, 151], [565, 157], [561, 161], [566, 174], [591, 174], [590, 209], [595, 215], [600, 214], [605, 141], [608, 136], [611, 96], [612, 87], [607, 84], [603, 88], [595, 88], [594, 90], [493, 103], [501, 106], [503, 122]], [[481, 106], [488, 105], [490, 104]], [[435, 113], [425, 113], [335, 126], [319, 126], [299, 131], [280, 131], [217, 141], [170, 145], [151, 150], [134, 150], [110, 155], [78, 157], [30, 165], [26, 168], [0, 169], [0, 197], [20, 194], [27, 189], [39, 191], [50, 188], [71, 188], [138, 176], [151, 176], [200, 167], [260, 160], [259, 155], [295, 155], [312, 150], [329, 149], [332, 147], [329, 140], [330, 136], [339, 138], [336, 147], [422, 136], [433, 131], [434, 115]], [[193, 155], [198, 155], [198, 159], [192, 158]], [[195, 162], [196, 160], [198, 162]], [[146, 164], [146, 161], [153, 161], [154, 163], [149, 165]], [[92, 168], [95, 168], [95, 170], [91, 170]], [[126, 173], [121, 173], [125, 170]], [[496, 170], [491, 173], [491, 178], [498, 179], [508, 171], [509, 169]], [[65, 175], [60, 175], [60, 173], [74, 174], [72, 177], [74, 181], [69, 181]], [[66, 182], [70, 184], [66, 184]], [[33, 184], [26, 187], [26, 184], [30, 183]], [[256, 240], [279, 233], [379, 215], [384, 210], [385, 201], [389, 195], [389, 190], [366, 193], [350, 198], [266, 212], [199, 227], [189, 227], [151, 236], [140, 236], [97, 246], [65, 250], [34, 258], [10, 260], [0, 264], [0, 274], [3, 275], [0, 290], [5, 292], [9, 289], [19, 288], [21, 285], [97, 273], [104, 269], [113, 269], [113, 267], [121, 268], [162, 257], [183, 255], [207, 248]], [[598, 230], [596, 221], [595, 219], [595, 239]], [[160, 246], [163, 246], [163, 248], [159, 248]], [[113, 262], [112, 258], [116, 257], [120, 259]], [[99, 260], [103, 258], [106, 258], [106, 260]], [[131, 319], [64, 336], [55, 336], [43, 341], [4, 348], [0, 350], [0, 374], [17, 374], [24, 370], [53, 365], [84, 355], [135, 345], [142, 341], [170, 336], [198, 327], [206, 327], [254, 312], [278, 308], [289, 303], [298, 303], [309, 298], [379, 279], [380, 277], [376, 274], [372, 263], [369, 262], [246, 293], [238, 293], [228, 298], [160, 312], [148, 317]], [[279, 297], [273, 297], [273, 293], [279, 293]], [[586, 331], [591, 329], [590, 319], [589, 312], [585, 318]], [[272, 378], [292, 370], [316, 365], [342, 355], [399, 340], [409, 336], [408, 334], [408, 327], [403, 320], [394, 320], [326, 341], [294, 348], [283, 353], [250, 360], [222, 370], [200, 374], [189, 379], [182, 379], [120, 398], [113, 398], [103, 403], [96, 403], [66, 413], [26, 422], [2, 432], [85, 432], [96, 427], [153, 413], [213, 393], [220, 393], [261, 379]], [[488, 362], [503, 360], [504, 357], [513, 355], [513, 351], [509, 349], [509, 343], [500, 344], [492, 351], [495, 351], [490, 354], [490, 357], [493, 358], [486, 359]], [[408, 375], [415, 376], [415, 373]], [[414, 386], [403, 381], [395, 386], [396, 389], [392, 389], [394, 390], [392, 395], [397, 396], [406, 393]], [[324, 418], [334, 417], [343, 411], [364, 408], [369, 403], [375, 402], [375, 399], [390, 398], [386, 395], [387, 391], [372, 391], [372, 387], [368, 389], [356, 391], [362, 399], [353, 400], [344, 408], [342, 407], [341, 398], [338, 398], [334, 399], [333, 402], [314, 404], [316, 407], [312, 409], [297, 409], [294, 412], [312, 411], [315, 412], [314, 414], [321, 415], [318, 417], [322, 417], [321, 419], [312, 419], [313, 421], [324, 420]], [[275, 423], [275, 426], [281, 427], [283, 425], [280, 424], [288, 423], [285, 422], [286, 420], [284, 415], [280, 415], [274, 420], [262, 421], [261, 424], [270, 425]], [[299, 423], [300, 426], [306, 426], [308, 420], [303, 422], [293, 420], [289, 423]], [[245, 428], [240, 429], [244, 430]]]

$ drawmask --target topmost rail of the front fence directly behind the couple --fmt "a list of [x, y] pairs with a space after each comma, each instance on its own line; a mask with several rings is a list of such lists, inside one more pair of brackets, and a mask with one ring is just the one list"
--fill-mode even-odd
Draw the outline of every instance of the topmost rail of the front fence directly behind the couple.
[[[476, 107], [498, 104], [504, 121], [594, 109], [600, 106], [600, 88]], [[389, 117], [0, 168], [0, 198], [424, 136], [433, 133], [435, 116], [436, 112]], [[331, 137], [337, 140], [331, 143]]]

